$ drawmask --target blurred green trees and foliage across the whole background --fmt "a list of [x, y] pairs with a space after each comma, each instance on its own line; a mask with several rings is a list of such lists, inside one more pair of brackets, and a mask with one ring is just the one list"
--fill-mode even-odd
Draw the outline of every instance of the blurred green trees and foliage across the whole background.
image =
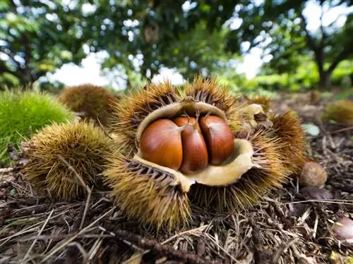
[[[321, 8], [317, 30], [308, 30], [309, 2]], [[247, 91], [350, 89], [353, 13], [322, 20], [342, 6], [352, 1], [0, 0], [0, 89], [59, 91], [64, 84], [45, 77], [97, 52], [105, 54], [102, 75], [128, 89], [161, 68], [185, 79], [217, 75]], [[254, 47], [265, 63], [249, 80], [235, 69]]]

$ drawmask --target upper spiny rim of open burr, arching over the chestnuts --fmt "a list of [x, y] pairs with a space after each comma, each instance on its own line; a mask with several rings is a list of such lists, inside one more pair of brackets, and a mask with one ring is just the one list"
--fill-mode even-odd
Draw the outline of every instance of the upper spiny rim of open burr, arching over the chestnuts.
[[197, 77], [193, 84], [187, 84], [184, 90], [175, 88], [169, 82], [148, 83], [144, 89], [122, 97], [119, 104], [115, 105], [110, 130], [114, 134], [119, 134], [117, 142], [122, 146], [121, 153], [131, 157], [137, 152], [136, 132], [140, 123], [150, 113], [186, 99], [208, 103], [220, 109], [224, 112], [229, 127], [235, 129], [239, 126], [237, 111], [240, 107], [239, 103], [227, 92], [227, 89], [220, 87], [213, 80], [202, 80], [201, 77]]

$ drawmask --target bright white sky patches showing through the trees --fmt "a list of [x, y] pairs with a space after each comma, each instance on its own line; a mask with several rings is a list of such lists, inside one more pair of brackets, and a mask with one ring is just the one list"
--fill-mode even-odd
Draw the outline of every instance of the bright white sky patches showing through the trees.
[[[262, 0], [257, 0], [262, 1]], [[186, 2], [184, 8], [189, 8], [190, 4]], [[88, 6], [90, 8], [90, 6]], [[349, 8], [345, 6], [337, 6], [336, 8], [326, 11], [323, 15], [323, 25], [330, 25], [337, 17], [336, 25], [338, 27], [345, 24], [346, 15], [353, 12], [353, 6]], [[321, 7], [315, 4], [315, 1], [309, 1], [309, 4], [304, 9], [304, 16], [308, 22], [307, 29], [310, 31], [318, 30], [320, 27], [320, 16]], [[237, 28], [241, 25], [241, 20], [234, 18], [231, 21], [231, 27]], [[246, 43], [244, 44], [246, 46]], [[87, 47], [88, 49], [88, 47]], [[258, 48], [253, 48], [248, 54], [243, 56], [243, 62], [239, 65], [239, 68], [234, 69], [234, 74], [245, 73], [248, 79], [256, 76], [258, 70], [260, 70], [261, 65], [264, 61], [261, 59], [262, 50]], [[91, 83], [96, 85], [110, 85], [114, 89], [124, 89], [125, 82], [119, 77], [112, 75], [102, 74], [102, 69], [100, 62], [107, 56], [107, 54], [88, 54], [88, 56], [83, 59], [80, 65], [74, 65], [73, 63], [63, 65], [61, 68], [56, 70], [54, 73], [47, 75], [49, 81], [54, 82], [58, 80], [63, 82], [67, 86]], [[266, 60], [266, 58], [265, 58]], [[267, 58], [268, 60], [268, 58]], [[114, 81], [112, 81], [114, 79]], [[177, 73], [177, 70], [162, 68], [159, 75], [155, 75], [152, 81], [160, 82], [162, 80], [168, 79], [173, 84], [182, 84], [185, 82], [183, 77]]]

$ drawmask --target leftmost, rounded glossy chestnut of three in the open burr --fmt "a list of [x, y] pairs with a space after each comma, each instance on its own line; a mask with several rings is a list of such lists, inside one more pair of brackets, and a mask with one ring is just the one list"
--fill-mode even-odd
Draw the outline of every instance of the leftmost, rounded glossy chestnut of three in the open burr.
[[140, 139], [140, 153], [146, 161], [178, 170], [183, 160], [181, 131], [172, 120], [160, 119], [152, 122]]

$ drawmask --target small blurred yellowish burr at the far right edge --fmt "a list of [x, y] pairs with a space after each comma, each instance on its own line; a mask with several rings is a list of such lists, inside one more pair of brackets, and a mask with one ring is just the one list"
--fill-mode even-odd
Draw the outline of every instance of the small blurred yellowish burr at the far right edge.
[[325, 106], [323, 120], [333, 120], [341, 125], [353, 125], [353, 102], [340, 100]]

